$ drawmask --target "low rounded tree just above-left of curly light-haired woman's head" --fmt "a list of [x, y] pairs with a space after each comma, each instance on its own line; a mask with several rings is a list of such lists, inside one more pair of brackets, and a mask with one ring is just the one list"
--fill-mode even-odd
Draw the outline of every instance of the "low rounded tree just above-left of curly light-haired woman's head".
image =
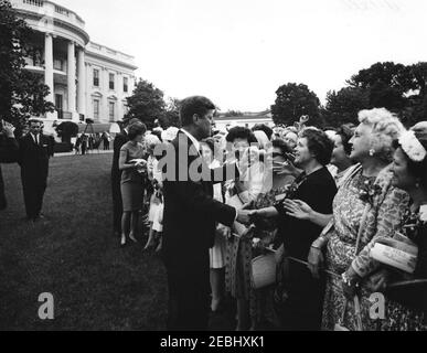
[[327, 94], [327, 105], [322, 116], [327, 126], [339, 127], [342, 124], [357, 124], [359, 110], [370, 106], [366, 89], [360, 87], [344, 87], [339, 92], [330, 90]]

